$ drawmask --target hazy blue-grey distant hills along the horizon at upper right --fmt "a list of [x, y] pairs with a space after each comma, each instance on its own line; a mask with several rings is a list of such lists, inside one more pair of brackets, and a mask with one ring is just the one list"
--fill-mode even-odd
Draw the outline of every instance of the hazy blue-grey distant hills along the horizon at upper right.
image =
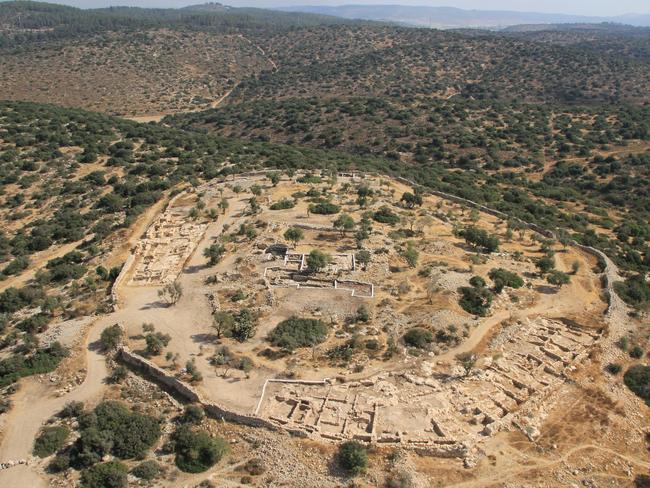
[[463, 10], [454, 7], [417, 7], [406, 5], [342, 5], [292, 6], [283, 11], [333, 15], [346, 19], [397, 22], [418, 27], [458, 29], [464, 27], [501, 29], [520, 24], [594, 24], [615, 22], [635, 26], [650, 26], [650, 15], [591, 17], [538, 12]]

